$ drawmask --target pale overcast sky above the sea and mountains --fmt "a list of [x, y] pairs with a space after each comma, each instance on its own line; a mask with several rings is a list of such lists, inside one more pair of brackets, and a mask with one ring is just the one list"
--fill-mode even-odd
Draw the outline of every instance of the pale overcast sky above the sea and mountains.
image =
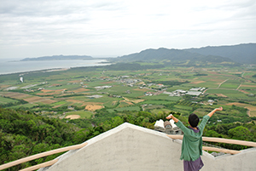
[[256, 43], [255, 0], [1, 0], [0, 58]]

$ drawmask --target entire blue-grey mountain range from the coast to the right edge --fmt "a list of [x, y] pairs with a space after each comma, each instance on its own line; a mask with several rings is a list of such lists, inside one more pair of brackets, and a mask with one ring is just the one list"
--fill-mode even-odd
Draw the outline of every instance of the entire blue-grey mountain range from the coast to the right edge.
[[169, 48], [149, 48], [140, 53], [128, 54], [113, 59], [118, 62], [131, 61], [151, 61], [151, 60], [171, 60], [172, 63], [180, 63], [189, 60], [190, 64], [197, 63], [222, 63], [236, 62], [244, 64], [256, 64], [256, 43], [240, 44], [234, 46], [169, 49]]

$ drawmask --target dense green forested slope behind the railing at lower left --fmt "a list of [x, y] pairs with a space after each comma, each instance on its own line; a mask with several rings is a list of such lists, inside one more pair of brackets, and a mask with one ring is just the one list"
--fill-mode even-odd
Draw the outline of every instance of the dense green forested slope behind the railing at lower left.
[[[85, 137], [85, 131], [73, 124], [35, 116], [29, 111], [14, 111], [0, 107], [0, 164], [62, 146], [78, 144], [84, 142]], [[57, 156], [53, 155], [23, 163], [10, 170], [18, 170], [55, 157]]]

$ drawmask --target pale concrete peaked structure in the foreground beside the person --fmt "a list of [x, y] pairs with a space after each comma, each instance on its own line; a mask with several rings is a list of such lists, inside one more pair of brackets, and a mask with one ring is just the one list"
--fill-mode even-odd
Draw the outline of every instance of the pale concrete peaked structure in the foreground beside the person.
[[[84, 170], [168, 170], [182, 171], [179, 159], [182, 140], [172, 140], [164, 133], [123, 123], [117, 128], [86, 141], [79, 150], [68, 151], [48, 168], [39, 171]], [[203, 151], [202, 171], [256, 170], [256, 148], [239, 154], [213, 157]]]

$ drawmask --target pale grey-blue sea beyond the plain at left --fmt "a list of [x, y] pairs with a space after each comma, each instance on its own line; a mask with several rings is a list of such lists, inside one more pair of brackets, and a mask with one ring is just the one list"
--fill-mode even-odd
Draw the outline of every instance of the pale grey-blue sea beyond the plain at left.
[[[107, 66], [107, 60], [33, 60], [20, 61], [15, 59], [0, 59], [0, 75], [26, 71], [41, 71], [50, 69], [69, 69], [81, 66]], [[54, 70], [53, 70], [54, 71]]]

